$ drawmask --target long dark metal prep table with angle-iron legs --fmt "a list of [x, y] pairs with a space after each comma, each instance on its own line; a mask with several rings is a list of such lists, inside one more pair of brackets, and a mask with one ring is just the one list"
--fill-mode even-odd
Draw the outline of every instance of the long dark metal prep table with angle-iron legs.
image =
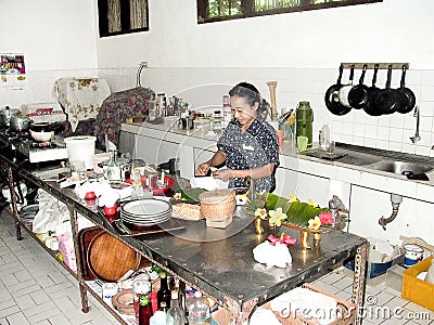
[[[299, 232], [285, 229], [284, 231], [297, 237], [298, 242], [295, 246], [290, 247], [293, 264], [286, 269], [278, 269], [267, 268], [253, 259], [252, 249], [266, 239], [266, 236], [255, 234], [253, 223], [228, 238], [206, 243], [189, 240], [176, 233], [140, 237], [122, 236], [106, 222], [105, 218], [97, 211], [88, 209], [72, 190], [60, 188], [54, 181], [43, 181], [34, 173], [34, 166], [21, 161], [20, 157], [12, 154], [7, 151], [0, 154], [0, 160], [10, 169], [10, 186], [13, 184], [13, 178], [25, 179], [68, 206], [78, 270], [80, 270], [81, 261], [76, 240], [77, 212], [166, 271], [222, 303], [231, 312], [232, 324], [246, 324], [255, 306], [261, 304], [303, 282], [309, 282], [330, 272], [330, 269], [352, 256], [356, 257], [352, 301], [359, 308], [362, 307], [367, 257], [367, 240], [362, 237], [341, 231], [331, 231], [322, 235], [319, 245], [307, 250], [299, 245]], [[13, 202], [16, 203], [14, 195]], [[12, 216], [16, 221], [17, 238], [21, 238], [21, 223], [16, 207], [13, 209]], [[202, 232], [208, 231], [203, 221], [186, 222], [186, 227], [196, 227]], [[31, 232], [29, 231], [29, 233]], [[88, 291], [103, 303], [102, 299], [82, 281], [80, 272], [76, 277], [81, 291], [82, 311], [89, 310]], [[107, 306], [105, 307], [107, 308]], [[122, 321], [114, 311], [112, 314]], [[361, 320], [358, 318], [357, 323], [360, 322]]]

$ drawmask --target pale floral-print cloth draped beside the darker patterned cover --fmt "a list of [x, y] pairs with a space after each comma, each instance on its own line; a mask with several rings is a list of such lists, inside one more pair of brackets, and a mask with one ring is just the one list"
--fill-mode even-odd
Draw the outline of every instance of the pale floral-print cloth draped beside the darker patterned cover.
[[65, 109], [73, 132], [78, 121], [98, 116], [102, 102], [110, 94], [108, 83], [102, 78], [61, 78], [52, 90], [53, 98]]

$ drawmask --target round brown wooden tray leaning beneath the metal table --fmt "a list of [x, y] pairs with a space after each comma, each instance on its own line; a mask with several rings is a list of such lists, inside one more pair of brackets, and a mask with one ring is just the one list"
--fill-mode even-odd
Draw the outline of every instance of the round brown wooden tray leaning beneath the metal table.
[[106, 282], [118, 281], [128, 270], [140, 266], [140, 255], [108, 233], [93, 237], [88, 248], [90, 271]]

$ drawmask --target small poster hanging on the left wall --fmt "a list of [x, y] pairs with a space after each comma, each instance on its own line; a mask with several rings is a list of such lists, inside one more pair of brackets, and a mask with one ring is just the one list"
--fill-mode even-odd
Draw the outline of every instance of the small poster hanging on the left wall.
[[27, 88], [26, 65], [24, 54], [0, 54], [0, 87], [1, 89]]

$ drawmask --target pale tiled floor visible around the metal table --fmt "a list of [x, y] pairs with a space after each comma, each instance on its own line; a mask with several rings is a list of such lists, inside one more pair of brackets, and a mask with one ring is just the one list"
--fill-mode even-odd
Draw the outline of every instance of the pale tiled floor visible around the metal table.
[[[117, 324], [89, 296], [91, 310], [81, 312], [76, 280], [23, 231], [15, 239], [12, 219], [0, 216], [0, 325]], [[339, 269], [315, 285], [349, 300], [352, 277]], [[434, 298], [433, 298], [434, 299]], [[434, 312], [400, 298], [381, 284], [367, 286], [363, 324], [434, 324]]]

